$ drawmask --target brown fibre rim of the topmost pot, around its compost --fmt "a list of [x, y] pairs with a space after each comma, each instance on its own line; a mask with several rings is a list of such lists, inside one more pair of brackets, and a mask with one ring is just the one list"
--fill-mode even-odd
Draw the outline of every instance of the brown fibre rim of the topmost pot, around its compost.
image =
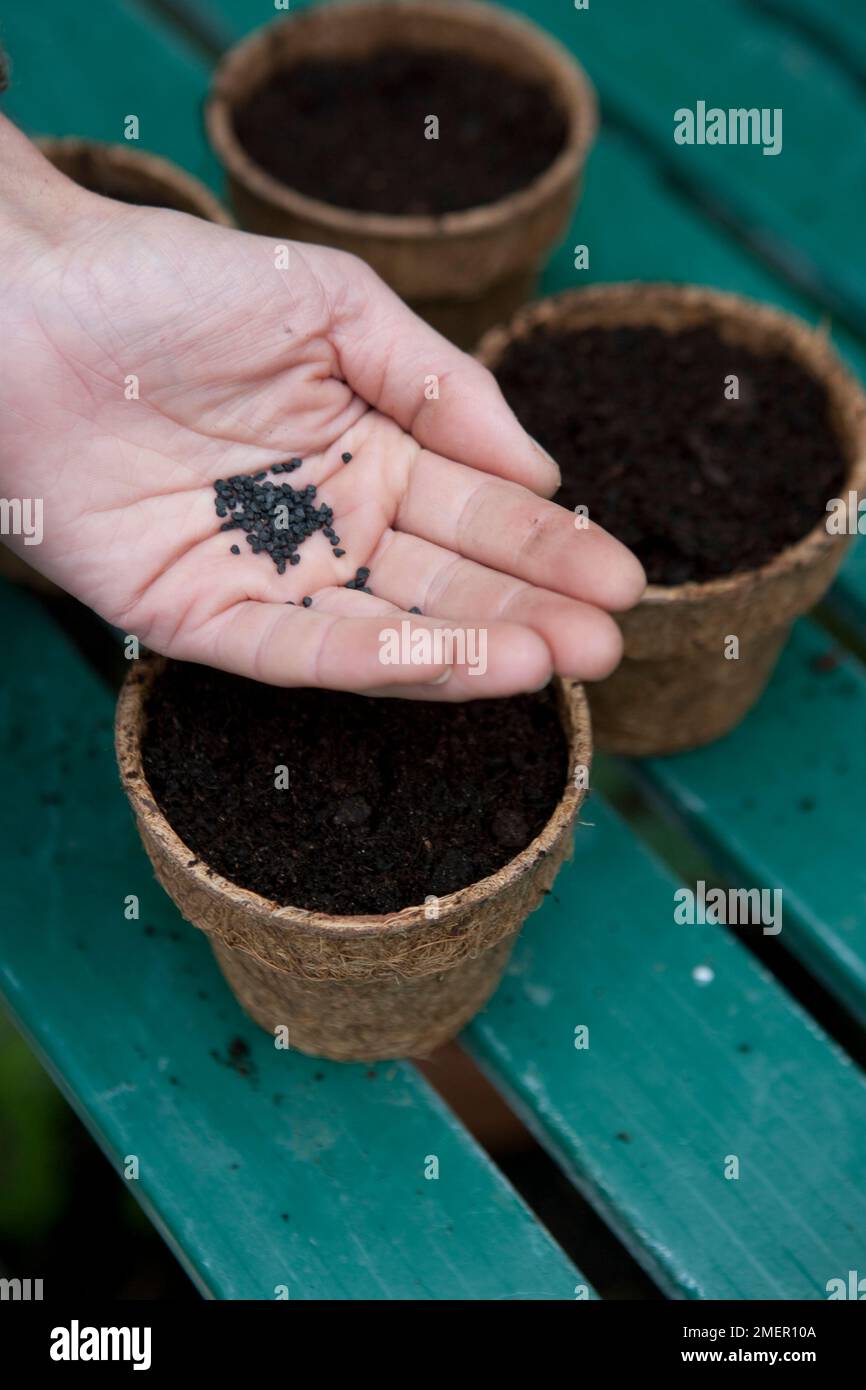
[[[336, 203], [325, 203], [282, 183], [250, 158], [235, 135], [231, 93], [238, 75], [250, 63], [256, 65], [257, 57], [270, 47], [277, 31], [291, 32], [293, 28], [297, 32], [329, 22], [328, 17], [339, 11], [345, 13], [343, 24], [363, 21], [366, 13], [370, 11], [392, 11], [395, 24], [399, 24], [400, 15], [406, 13], [413, 17], [427, 17], [431, 21], [431, 38], [435, 36], [435, 22], [448, 17], [449, 22], [461, 24], [467, 32], [496, 31], [500, 36], [513, 40], [517, 47], [531, 49], [539, 63], [546, 65], [560, 97], [569, 126], [566, 145], [546, 170], [542, 170], [530, 183], [513, 193], [507, 193], [493, 203], [442, 213], [441, 215], [359, 211], [341, 207]], [[430, 47], [435, 50], [436, 43], [431, 42]], [[229, 175], [281, 211], [318, 222], [335, 234], [421, 242], [431, 238], [457, 238], [478, 231], [493, 231], [510, 222], [516, 215], [544, 203], [553, 192], [569, 186], [577, 178], [595, 139], [598, 101], [595, 89], [577, 58], [562, 43], [520, 15], [493, 10], [487, 4], [477, 4], [475, 0], [460, 0], [459, 4], [456, 0], [334, 0], [327, 7], [272, 19], [234, 44], [214, 71], [204, 107], [204, 121], [211, 145]]]

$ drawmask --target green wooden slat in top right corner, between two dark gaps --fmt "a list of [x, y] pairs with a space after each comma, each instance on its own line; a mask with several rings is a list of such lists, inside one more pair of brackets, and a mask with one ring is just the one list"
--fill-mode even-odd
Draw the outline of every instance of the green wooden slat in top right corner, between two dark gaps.
[[[866, 329], [858, 231], [866, 215], [866, 146], [851, 138], [863, 129], [866, 103], [853, 76], [742, 0], [666, 0], [663, 22], [644, 0], [584, 14], [555, 0], [531, 8], [585, 61], [606, 108], [677, 178], [787, 275]], [[783, 153], [676, 145], [674, 111], [698, 100], [780, 107]]]

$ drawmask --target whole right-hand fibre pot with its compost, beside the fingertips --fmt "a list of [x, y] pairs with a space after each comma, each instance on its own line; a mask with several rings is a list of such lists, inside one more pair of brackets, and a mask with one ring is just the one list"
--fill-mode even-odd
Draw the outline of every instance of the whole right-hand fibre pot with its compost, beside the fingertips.
[[765, 304], [599, 285], [521, 311], [478, 357], [560, 466], [557, 502], [641, 559], [624, 659], [588, 687], [596, 745], [726, 734], [833, 581], [866, 484], [866, 400], [827, 336]]

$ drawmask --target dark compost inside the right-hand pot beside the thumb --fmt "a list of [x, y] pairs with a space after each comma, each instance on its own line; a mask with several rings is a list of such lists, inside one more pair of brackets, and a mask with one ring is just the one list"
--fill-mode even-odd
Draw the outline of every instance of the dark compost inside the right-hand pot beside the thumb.
[[[730, 346], [712, 328], [535, 329], [495, 370], [560, 466], [556, 502], [587, 506], [651, 584], [766, 564], [844, 484], [824, 386], [794, 357]], [[738, 399], [726, 399], [731, 375]]]

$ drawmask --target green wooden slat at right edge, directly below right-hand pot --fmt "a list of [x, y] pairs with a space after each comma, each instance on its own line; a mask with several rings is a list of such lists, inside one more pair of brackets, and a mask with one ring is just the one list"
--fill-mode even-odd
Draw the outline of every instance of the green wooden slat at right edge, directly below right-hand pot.
[[[641, 773], [740, 887], [781, 888], [780, 941], [866, 1022], [866, 676], [799, 623], [727, 738]], [[748, 777], [738, 774], [748, 769]]]

